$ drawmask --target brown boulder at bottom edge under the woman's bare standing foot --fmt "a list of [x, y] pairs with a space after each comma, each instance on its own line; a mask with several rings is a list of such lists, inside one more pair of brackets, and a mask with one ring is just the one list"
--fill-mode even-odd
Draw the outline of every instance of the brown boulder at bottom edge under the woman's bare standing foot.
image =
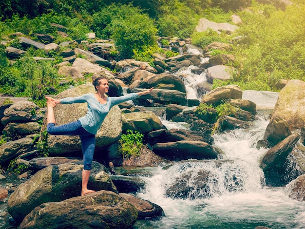
[[29, 213], [20, 228], [130, 228], [137, 210], [112, 191], [98, 191], [61, 202], [44, 203]]

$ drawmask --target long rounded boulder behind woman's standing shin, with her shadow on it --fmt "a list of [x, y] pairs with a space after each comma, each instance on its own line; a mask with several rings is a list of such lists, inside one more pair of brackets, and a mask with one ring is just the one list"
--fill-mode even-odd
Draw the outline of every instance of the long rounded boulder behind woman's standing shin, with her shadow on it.
[[[35, 173], [29, 180], [19, 185], [11, 194], [8, 212], [17, 221], [29, 214], [40, 204], [62, 201], [79, 196], [81, 191], [82, 161], [48, 166]], [[105, 166], [93, 162], [88, 188], [117, 192]]]

